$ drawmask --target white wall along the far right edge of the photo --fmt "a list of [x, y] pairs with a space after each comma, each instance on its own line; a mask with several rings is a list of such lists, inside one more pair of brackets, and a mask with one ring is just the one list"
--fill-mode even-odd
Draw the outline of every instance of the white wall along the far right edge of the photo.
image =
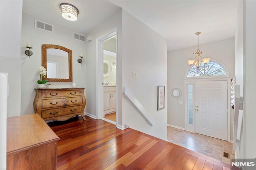
[[256, 158], [256, 2], [238, 2], [236, 25], [236, 84], [243, 102], [243, 126], [237, 158]]

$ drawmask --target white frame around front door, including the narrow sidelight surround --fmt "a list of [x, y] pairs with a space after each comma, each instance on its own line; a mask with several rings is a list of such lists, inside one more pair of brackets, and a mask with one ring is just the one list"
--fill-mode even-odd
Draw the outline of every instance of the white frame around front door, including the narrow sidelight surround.
[[[196, 132], [196, 112], [193, 109], [193, 125], [188, 125], [188, 88], [187, 85], [193, 85], [193, 94], [195, 94], [196, 81], [227, 81], [227, 108], [228, 108], [228, 142], [230, 140], [230, 78], [229, 77], [193, 77], [185, 79], [184, 83], [184, 128], [185, 130]], [[196, 98], [193, 95], [193, 108], [196, 105]]]

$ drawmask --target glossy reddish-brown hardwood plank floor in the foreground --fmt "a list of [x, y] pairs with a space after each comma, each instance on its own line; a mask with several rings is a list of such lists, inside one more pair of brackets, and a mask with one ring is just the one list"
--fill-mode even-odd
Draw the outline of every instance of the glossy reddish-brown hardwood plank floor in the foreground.
[[59, 136], [57, 169], [229, 170], [229, 164], [131, 128], [72, 118], [48, 125]]

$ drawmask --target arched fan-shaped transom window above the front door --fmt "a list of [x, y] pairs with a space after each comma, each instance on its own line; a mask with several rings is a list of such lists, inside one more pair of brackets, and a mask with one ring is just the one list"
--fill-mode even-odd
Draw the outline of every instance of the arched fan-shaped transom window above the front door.
[[[189, 70], [187, 77], [200, 77], [200, 76], [218, 76], [218, 75], [226, 75], [226, 71], [225, 69], [218, 63], [214, 62], [214, 61], [209, 61], [208, 62], [208, 67], [209, 69], [207, 69], [206, 71], [201, 71], [200, 69], [195, 69], [194, 70]], [[204, 63], [201, 63], [201, 67], [204, 67]]]

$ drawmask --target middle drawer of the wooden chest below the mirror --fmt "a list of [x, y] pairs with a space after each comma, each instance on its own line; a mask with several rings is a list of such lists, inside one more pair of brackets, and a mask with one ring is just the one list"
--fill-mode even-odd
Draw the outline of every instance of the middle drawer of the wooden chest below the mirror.
[[68, 97], [60, 99], [43, 99], [42, 109], [51, 107], [66, 107], [71, 105], [81, 105], [83, 103], [82, 97]]

